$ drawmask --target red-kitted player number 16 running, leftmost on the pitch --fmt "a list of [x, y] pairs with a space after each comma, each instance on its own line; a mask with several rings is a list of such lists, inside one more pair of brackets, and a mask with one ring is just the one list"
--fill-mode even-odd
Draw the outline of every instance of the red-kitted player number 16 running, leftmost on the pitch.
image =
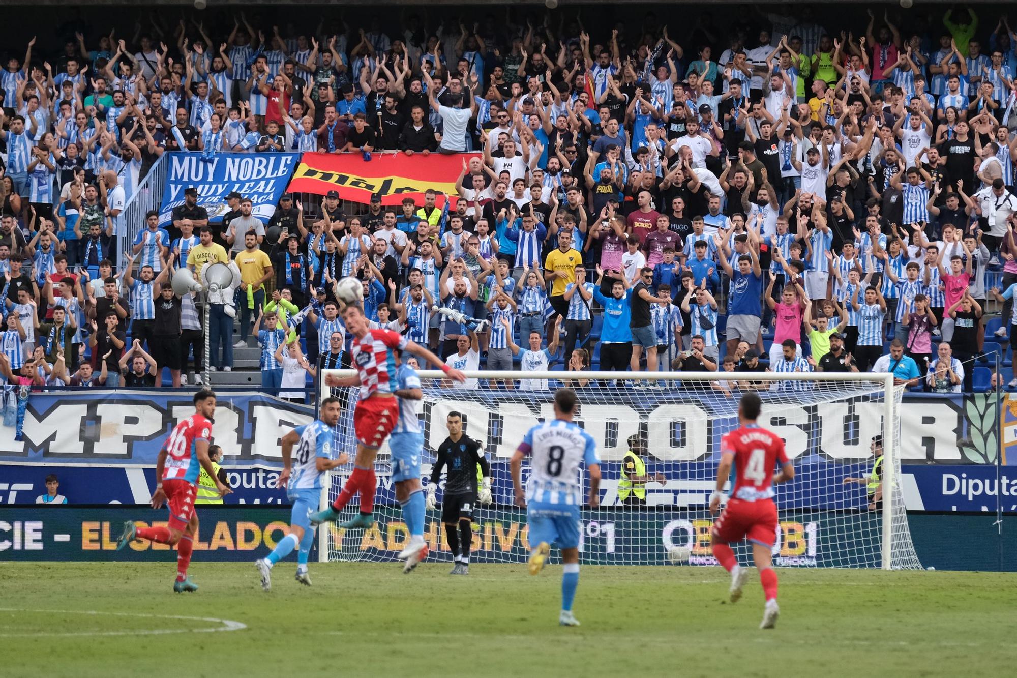
[[173, 590], [197, 590], [197, 584], [187, 577], [194, 535], [197, 534], [197, 514], [194, 513], [194, 486], [200, 468], [216, 483], [220, 497], [233, 492], [216, 477], [216, 469], [208, 458], [213, 417], [216, 414], [216, 394], [201, 389], [194, 394], [194, 413], [173, 428], [173, 433], [163, 443], [156, 459], [156, 492], [152, 495], [152, 508], [169, 503], [168, 527], [137, 527], [133, 520], [124, 523], [124, 531], [117, 539], [117, 551], [135, 539], [157, 544], [176, 545], [177, 579]]

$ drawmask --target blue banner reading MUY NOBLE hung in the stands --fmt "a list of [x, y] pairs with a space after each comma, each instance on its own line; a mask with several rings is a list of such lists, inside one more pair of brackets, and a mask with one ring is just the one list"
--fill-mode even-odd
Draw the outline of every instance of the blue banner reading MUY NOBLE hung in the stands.
[[251, 214], [264, 222], [276, 211], [290, 181], [299, 153], [170, 153], [159, 210], [159, 225], [168, 226], [173, 209], [184, 204], [184, 190], [197, 188], [197, 204], [208, 212], [208, 221], [220, 222], [229, 212], [226, 196], [237, 191], [252, 203]]

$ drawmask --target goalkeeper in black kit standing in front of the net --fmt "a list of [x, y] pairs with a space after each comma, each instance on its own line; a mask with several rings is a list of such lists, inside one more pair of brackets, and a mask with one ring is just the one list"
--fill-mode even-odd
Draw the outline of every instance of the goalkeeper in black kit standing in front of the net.
[[[469, 574], [473, 507], [478, 499], [481, 504], [491, 503], [491, 467], [480, 449], [480, 443], [463, 435], [462, 414], [450, 412], [445, 427], [448, 429], [448, 437], [438, 446], [438, 460], [431, 470], [426, 504], [428, 509], [435, 508], [434, 493], [437, 491], [438, 478], [441, 477], [441, 469], [447, 467], [441, 522], [444, 523], [445, 539], [455, 562], [450, 574]], [[479, 493], [478, 465], [481, 477]]]

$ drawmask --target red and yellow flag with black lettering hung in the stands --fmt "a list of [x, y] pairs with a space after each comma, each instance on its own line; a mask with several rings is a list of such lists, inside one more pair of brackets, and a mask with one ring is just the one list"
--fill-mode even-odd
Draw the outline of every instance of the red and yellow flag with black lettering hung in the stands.
[[455, 199], [458, 194], [456, 178], [463, 169], [463, 162], [479, 154], [445, 156], [430, 153], [375, 153], [364, 161], [360, 153], [305, 153], [287, 190], [291, 193], [326, 194], [339, 192], [345, 201], [367, 204], [373, 193], [381, 193], [381, 205], [401, 205], [404, 197], [412, 197], [423, 205], [424, 191], [433, 188], [438, 192], [437, 204], [442, 205], [441, 193]]

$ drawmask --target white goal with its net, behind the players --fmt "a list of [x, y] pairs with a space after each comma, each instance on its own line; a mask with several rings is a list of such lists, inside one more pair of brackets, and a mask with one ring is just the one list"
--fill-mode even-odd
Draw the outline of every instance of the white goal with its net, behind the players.
[[[357, 399], [356, 388], [328, 387], [324, 377], [353, 374], [319, 375], [320, 397], [335, 395], [343, 404], [334, 430], [334, 453], [346, 452], [351, 459], [332, 473], [322, 504], [335, 499], [353, 467]], [[474, 513], [474, 562], [525, 561], [526, 512], [513, 505], [508, 459], [531, 426], [553, 416], [554, 391], [570, 386], [580, 399], [576, 419], [597, 441], [603, 476], [601, 506], [582, 511], [582, 562], [716, 564], [710, 550], [708, 503], [720, 439], [738, 426], [738, 399], [752, 390], [763, 400], [759, 422], [784, 439], [795, 466], [795, 477], [776, 487], [780, 524], [774, 564], [920, 568], [898, 483], [903, 387], [894, 385], [892, 375], [480, 371], [466, 373], [469, 385], [477, 380], [476, 388], [455, 388], [439, 371], [419, 374], [423, 399], [416, 407], [424, 432], [422, 485], [426, 488], [429, 483], [435, 451], [447, 436], [444, 421], [451, 411], [462, 414], [465, 435], [483, 445], [491, 463], [494, 503], [478, 506]], [[877, 436], [882, 438], [882, 504], [871, 508], [868, 483], [845, 478], [871, 474]], [[625, 453], [633, 446], [639, 448], [645, 472], [654, 479], [633, 489], [623, 482], [619, 488], [625, 477]], [[334, 523], [319, 530], [321, 560], [396, 560], [408, 535], [391, 482], [387, 445], [378, 451], [375, 472], [375, 526], [347, 533]], [[525, 482], [527, 462], [523, 474]], [[729, 489], [730, 482], [725, 495]], [[356, 513], [356, 503], [347, 507], [342, 519]], [[428, 561], [451, 561], [439, 512], [428, 512], [425, 539], [431, 551]], [[739, 559], [749, 562], [747, 548], [739, 548], [735, 549]]]

